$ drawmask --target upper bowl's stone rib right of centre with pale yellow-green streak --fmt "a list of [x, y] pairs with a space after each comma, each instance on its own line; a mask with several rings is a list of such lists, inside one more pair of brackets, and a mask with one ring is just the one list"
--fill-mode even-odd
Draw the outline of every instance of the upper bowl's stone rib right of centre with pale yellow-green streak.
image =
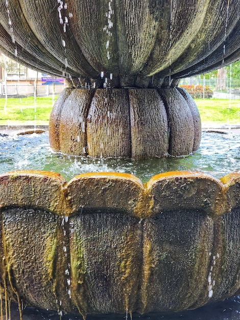
[[[150, 59], [143, 67], [143, 74], [152, 76], [166, 67], [171, 68], [172, 63], [182, 56], [202, 28], [209, 2], [184, 0], [173, 2], [172, 8], [169, 3], [164, 4], [162, 25]], [[195, 49], [199, 50], [199, 47]]]

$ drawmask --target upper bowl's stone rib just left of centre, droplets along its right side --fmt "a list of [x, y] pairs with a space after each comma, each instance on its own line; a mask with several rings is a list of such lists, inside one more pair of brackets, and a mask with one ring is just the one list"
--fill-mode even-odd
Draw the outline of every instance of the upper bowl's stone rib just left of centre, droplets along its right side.
[[116, 10], [114, 2], [106, 0], [69, 1], [73, 17], [69, 19], [80, 52], [98, 71], [118, 74], [115, 37]]

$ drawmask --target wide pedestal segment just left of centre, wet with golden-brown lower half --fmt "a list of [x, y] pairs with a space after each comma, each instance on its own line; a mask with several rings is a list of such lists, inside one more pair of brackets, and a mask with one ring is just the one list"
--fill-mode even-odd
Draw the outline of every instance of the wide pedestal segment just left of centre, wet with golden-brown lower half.
[[130, 157], [127, 89], [97, 89], [87, 116], [88, 155]]

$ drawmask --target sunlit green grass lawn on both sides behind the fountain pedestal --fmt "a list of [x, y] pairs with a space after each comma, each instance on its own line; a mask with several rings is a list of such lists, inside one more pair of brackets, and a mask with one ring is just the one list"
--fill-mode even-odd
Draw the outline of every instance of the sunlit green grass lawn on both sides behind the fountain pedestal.
[[[57, 96], [55, 97], [55, 100]], [[206, 125], [239, 124], [240, 100], [196, 99], [202, 123]], [[36, 112], [34, 97], [0, 99], [0, 125], [48, 124], [52, 110], [52, 97], [37, 98]]]

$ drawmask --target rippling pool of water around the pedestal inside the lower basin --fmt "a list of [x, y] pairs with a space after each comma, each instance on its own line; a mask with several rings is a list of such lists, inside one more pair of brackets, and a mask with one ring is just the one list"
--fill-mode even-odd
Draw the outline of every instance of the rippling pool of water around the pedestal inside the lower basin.
[[51, 151], [47, 132], [0, 136], [0, 173], [14, 170], [47, 170], [70, 180], [87, 172], [132, 173], [143, 182], [166, 171], [202, 171], [221, 178], [240, 170], [240, 139], [232, 133], [203, 132], [200, 149], [186, 157], [134, 159], [95, 159], [68, 156]]

